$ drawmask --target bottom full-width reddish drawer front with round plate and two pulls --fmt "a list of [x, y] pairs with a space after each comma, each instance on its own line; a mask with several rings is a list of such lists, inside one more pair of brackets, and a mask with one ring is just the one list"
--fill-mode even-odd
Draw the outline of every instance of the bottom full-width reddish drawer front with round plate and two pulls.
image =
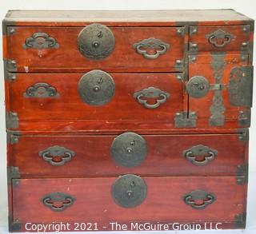
[[[13, 180], [13, 216], [21, 223], [230, 223], [245, 211], [235, 177], [122, 177]], [[38, 186], [40, 184], [40, 186]], [[33, 192], [33, 196], [31, 196]], [[122, 197], [123, 195], [123, 197]], [[132, 220], [130, 220], [132, 217]]]

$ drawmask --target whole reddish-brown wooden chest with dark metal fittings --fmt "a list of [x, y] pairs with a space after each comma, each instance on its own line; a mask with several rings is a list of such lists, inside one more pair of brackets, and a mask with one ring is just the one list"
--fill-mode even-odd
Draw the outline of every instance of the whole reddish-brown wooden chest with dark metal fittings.
[[245, 228], [252, 19], [12, 10], [2, 26], [10, 232]]

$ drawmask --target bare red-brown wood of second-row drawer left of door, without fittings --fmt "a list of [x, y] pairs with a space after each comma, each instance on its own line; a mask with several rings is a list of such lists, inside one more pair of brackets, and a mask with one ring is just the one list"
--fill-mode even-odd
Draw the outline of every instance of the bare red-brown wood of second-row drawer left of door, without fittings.
[[[129, 120], [172, 124], [174, 113], [182, 110], [183, 82], [173, 73], [110, 73], [115, 83], [115, 94], [109, 103], [101, 106], [82, 101], [78, 93], [82, 75], [18, 74], [17, 80], [9, 84], [10, 110], [18, 113], [20, 121], [29, 121], [34, 129], [40, 129], [40, 121], [46, 120], [74, 122], [96, 119], [106, 124]], [[26, 89], [38, 82], [53, 86], [59, 97], [23, 97]], [[170, 93], [170, 98], [156, 109], [146, 109], [133, 97], [135, 92], [150, 86]], [[151, 128], [158, 128], [158, 125], [151, 125]]]

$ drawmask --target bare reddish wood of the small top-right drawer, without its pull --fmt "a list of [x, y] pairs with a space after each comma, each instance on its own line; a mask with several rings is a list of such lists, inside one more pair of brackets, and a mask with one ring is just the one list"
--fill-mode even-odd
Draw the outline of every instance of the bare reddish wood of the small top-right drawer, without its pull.
[[[242, 43], [250, 41], [250, 25], [246, 26], [246, 32], [243, 30], [245, 26], [198, 26], [190, 27], [190, 42], [198, 45], [198, 51], [240, 51]], [[193, 34], [192, 30], [196, 29], [197, 33]], [[213, 34], [217, 30], [223, 30], [227, 34], [232, 35], [232, 39], [226, 46], [216, 47], [209, 42], [207, 35]], [[224, 40], [225, 41], [225, 40]], [[223, 40], [219, 39], [218, 44], [222, 44]], [[249, 47], [250, 48], [250, 47]], [[191, 50], [191, 45], [190, 45]]]

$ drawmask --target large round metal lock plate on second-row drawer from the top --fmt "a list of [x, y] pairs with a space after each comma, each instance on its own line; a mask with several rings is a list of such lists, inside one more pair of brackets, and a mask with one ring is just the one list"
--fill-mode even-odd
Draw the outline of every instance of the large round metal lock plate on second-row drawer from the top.
[[113, 78], [102, 70], [91, 70], [78, 83], [80, 97], [89, 105], [105, 105], [114, 97], [114, 91]]

